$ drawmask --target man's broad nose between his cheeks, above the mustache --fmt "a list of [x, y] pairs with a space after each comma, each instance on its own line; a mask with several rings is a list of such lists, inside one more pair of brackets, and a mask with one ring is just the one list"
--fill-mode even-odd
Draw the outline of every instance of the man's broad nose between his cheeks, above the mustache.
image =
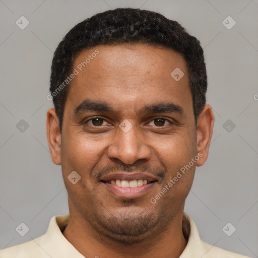
[[117, 135], [108, 147], [107, 155], [116, 158], [124, 164], [133, 164], [139, 159], [149, 160], [151, 151], [141, 137], [141, 132], [135, 125], [128, 131], [117, 128]]

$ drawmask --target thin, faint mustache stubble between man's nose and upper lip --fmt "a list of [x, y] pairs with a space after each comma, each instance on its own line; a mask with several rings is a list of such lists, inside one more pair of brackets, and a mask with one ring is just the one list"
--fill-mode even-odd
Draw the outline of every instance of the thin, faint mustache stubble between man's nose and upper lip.
[[92, 176], [98, 180], [103, 176], [106, 176], [112, 172], [148, 172], [151, 175], [159, 177], [161, 181], [164, 180], [166, 169], [164, 167], [150, 167], [149, 165], [139, 165], [139, 166], [128, 166], [128, 165], [116, 165], [116, 166], [106, 166], [101, 169], [92, 170]]

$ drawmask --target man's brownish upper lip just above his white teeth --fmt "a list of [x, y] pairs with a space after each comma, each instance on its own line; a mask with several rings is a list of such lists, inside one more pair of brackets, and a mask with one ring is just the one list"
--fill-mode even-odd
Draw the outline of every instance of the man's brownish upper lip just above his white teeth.
[[141, 172], [130, 172], [130, 173], [113, 173], [113, 174], [108, 174], [106, 176], [103, 176], [101, 178], [102, 181], [110, 181], [110, 180], [128, 180], [128, 181], [133, 181], [133, 180], [147, 180], [147, 181], [156, 181], [158, 180], [155, 176], [149, 175], [149, 174], [144, 174]]

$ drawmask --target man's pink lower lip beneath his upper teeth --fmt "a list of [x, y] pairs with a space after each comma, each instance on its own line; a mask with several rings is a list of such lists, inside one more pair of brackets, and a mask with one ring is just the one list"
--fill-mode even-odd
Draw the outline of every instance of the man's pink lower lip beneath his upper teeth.
[[111, 183], [104, 183], [104, 182], [102, 183], [109, 190], [111, 190], [115, 196], [126, 198], [126, 199], [132, 199], [132, 198], [138, 198], [145, 195], [147, 192], [149, 192], [152, 189], [152, 187], [156, 182], [144, 184], [142, 186], [137, 186], [134, 188], [120, 187], [120, 186], [117, 186], [116, 184], [111, 184]]

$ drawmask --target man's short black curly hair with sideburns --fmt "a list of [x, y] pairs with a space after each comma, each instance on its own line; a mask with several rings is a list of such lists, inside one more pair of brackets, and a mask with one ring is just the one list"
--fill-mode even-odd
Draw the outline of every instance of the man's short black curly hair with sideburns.
[[169, 20], [159, 13], [117, 8], [78, 23], [64, 36], [54, 52], [50, 93], [59, 118], [60, 132], [64, 104], [71, 86], [71, 83], [64, 85], [63, 82], [72, 73], [76, 56], [83, 49], [123, 43], [164, 46], [184, 57], [187, 63], [193, 112], [197, 121], [206, 103], [207, 91], [207, 73], [200, 41], [189, 35], [178, 22]]

